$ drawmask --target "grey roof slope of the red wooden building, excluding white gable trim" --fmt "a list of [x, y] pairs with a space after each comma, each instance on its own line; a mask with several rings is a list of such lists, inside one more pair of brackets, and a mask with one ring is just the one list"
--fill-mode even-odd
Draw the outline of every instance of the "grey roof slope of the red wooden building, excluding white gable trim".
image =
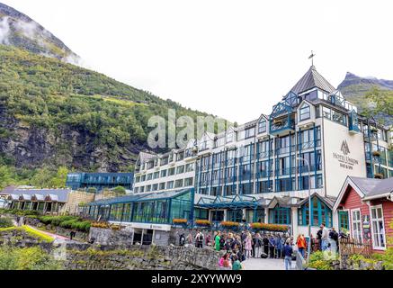
[[393, 178], [371, 179], [350, 176], [353, 183], [365, 196], [376, 196], [393, 192]]

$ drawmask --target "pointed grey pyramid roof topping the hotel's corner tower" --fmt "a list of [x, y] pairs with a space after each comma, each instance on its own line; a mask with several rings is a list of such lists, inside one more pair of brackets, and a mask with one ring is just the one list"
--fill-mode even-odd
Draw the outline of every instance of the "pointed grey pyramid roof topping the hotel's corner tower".
[[294, 85], [290, 91], [300, 94], [314, 87], [318, 87], [319, 89], [322, 89], [328, 93], [332, 93], [336, 90], [333, 85], [327, 82], [324, 76], [317, 72], [315, 66], [311, 66], [309, 67], [307, 73], [300, 78], [299, 82]]

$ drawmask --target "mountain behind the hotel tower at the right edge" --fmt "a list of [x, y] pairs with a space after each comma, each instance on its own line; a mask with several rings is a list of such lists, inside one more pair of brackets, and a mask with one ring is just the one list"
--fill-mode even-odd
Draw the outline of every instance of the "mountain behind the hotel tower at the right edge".
[[[348, 101], [355, 104], [361, 113], [373, 112], [374, 104], [366, 97], [373, 88], [377, 88], [380, 91], [393, 91], [393, 80], [378, 79], [376, 77], [361, 77], [351, 72], [347, 72], [344, 81], [338, 85], [338, 90], [341, 91]], [[393, 124], [392, 115], [375, 112], [373, 116], [386, 124]]]

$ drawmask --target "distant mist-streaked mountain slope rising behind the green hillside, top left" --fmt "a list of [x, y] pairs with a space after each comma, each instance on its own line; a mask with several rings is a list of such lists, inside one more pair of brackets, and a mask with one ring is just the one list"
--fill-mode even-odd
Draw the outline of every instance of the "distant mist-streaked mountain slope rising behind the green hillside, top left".
[[79, 57], [29, 16], [0, 3], [0, 44], [77, 63]]

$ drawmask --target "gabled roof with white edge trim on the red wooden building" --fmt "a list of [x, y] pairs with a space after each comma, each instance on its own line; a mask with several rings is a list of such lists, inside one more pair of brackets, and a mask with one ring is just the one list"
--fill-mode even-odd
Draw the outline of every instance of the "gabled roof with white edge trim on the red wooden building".
[[336, 210], [340, 202], [342, 202], [344, 194], [348, 190], [348, 186], [351, 186], [353, 190], [359, 194], [362, 201], [384, 198], [388, 197], [390, 193], [393, 193], [393, 178], [381, 180], [347, 176], [335, 201], [334, 210]]

